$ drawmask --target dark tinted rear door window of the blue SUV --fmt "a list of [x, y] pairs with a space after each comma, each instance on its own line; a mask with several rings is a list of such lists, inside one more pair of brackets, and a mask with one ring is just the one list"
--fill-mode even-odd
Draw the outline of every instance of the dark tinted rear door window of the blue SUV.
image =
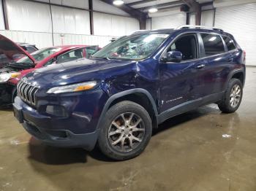
[[218, 55], [225, 52], [222, 38], [217, 34], [201, 34], [206, 56]]

